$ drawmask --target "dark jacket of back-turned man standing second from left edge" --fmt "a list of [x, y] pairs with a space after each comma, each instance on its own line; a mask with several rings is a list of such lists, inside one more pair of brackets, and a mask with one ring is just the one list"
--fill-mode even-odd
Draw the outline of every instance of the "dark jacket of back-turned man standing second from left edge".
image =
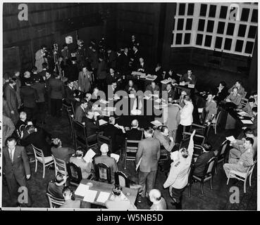
[[32, 86], [22, 86], [20, 89], [20, 98], [25, 107], [35, 108], [39, 96], [36, 89], [33, 89]]

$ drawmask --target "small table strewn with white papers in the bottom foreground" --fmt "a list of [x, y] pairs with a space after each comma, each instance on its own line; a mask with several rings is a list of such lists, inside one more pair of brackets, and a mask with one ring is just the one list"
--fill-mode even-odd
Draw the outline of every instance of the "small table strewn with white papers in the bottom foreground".
[[[80, 193], [82, 193], [82, 195], [84, 195], [84, 196], [77, 195], [77, 193], [79, 191], [78, 188], [81, 188], [80, 185], [79, 185], [78, 188], [75, 191], [75, 200], [80, 200], [82, 202], [85, 202], [85, 200], [89, 200], [88, 203], [91, 203], [91, 204], [94, 204], [94, 205], [105, 206], [105, 200], [106, 199], [110, 200], [111, 196], [113, 195], [112, 194], [112, 190], [113, 190], [113, 187], [114, 187], [113, 184], [108, 184], [108, 183], [89, 180], [89, 179], [82, 179], [80, 184], [87, 185], [89, 187], [88, 188], [89, 191], [97, 191], [97, 193], [96, 193], [95, 197], [94, 197], [95, 193], [93, 193], [93, 192], [87, 193], [87, 194], [92, 195], [92, 196], [88, 196], [89, 198], [86, 199], [85, 195], [87, 195], [87, 194], [83, 193], [82, 191], [80, 191]], [[87, 191], [87, 187], [86, 187], [86, 191]], [[128, 198], [128, 200], [130, 200], [130, 202], [132, 204], [135, 205], [135, 200], [136, 200], [137, 194], [138, 194], [137, 189], [122, 187], [122, 193], [123, 193], [123, 195], [125, 195], [126, 198]], [[106, 197], [101, 198], [101, 195], [106, 195], [106, 196], [108, 196], [108, 198], [106, 198]], [[92, 198], [92, 200], [90, 200], [90, 198]], [[84, 203], [83, 203], [83, 205], [84, 205]]]

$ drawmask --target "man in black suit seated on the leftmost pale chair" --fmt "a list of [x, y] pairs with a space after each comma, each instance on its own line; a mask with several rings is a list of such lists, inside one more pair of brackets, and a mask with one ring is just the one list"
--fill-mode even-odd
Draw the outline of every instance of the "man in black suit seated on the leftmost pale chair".
[[47, 141], [47, 138], [51, 139], [51, 136], [44, 129], [36, 129], [33, 125], [27, 125], [26, 131], [29, 134], [24, 140], [27, 146], [32, 144], [42, 149], [44, 157], [51, 156], [51, 145]]

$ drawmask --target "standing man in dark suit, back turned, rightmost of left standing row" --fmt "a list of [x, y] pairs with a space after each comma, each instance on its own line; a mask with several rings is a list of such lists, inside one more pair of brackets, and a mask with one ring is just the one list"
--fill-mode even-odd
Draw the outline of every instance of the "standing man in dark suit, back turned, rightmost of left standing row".
[[51, 115], [61, 117], [62, 99], [65, 96], [64, 85], [60, 75], [49, 81], [49, 96], [51, 98]]

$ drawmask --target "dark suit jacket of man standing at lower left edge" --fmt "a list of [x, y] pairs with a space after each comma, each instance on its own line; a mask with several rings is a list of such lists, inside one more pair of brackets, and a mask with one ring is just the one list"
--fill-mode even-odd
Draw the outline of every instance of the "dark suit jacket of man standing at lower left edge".
[[16, 146], [13, 153], [13, 163], [11, 162], [8, 147], [3, 148], [3, 172], [6, 179], [12, 179], [14, 175], [20, 186], [26, 186], [25, 175], [30, 175], [30, 164], [25, 148]]

